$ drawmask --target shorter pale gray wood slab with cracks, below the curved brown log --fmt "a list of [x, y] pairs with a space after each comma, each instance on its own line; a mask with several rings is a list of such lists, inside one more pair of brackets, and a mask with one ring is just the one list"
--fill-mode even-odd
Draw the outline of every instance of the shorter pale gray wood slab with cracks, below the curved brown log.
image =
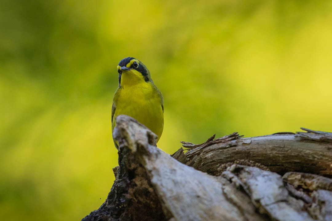
[[274, 220], [313, 220], [308, 214], [290, 206], [289, 193], [277, 173], [234, 164], [222, 176], [242, 186], [259, 211]]

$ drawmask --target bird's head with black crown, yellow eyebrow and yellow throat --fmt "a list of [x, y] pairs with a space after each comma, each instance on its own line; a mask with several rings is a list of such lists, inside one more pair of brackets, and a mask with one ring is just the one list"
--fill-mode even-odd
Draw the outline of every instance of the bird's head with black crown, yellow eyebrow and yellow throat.
[[122, 59], [117, 69], [119, 85], [152, 82], [149, 70], [136, 58], [127, 57]]

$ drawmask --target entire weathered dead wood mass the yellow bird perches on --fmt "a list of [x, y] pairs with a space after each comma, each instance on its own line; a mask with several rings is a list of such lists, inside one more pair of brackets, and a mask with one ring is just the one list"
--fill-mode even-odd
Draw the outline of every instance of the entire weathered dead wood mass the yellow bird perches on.
[[83, 221], [332, 220], [332, 133], [233, 133], [170, 156], [135, 119], [116, 122], [116, 180]]

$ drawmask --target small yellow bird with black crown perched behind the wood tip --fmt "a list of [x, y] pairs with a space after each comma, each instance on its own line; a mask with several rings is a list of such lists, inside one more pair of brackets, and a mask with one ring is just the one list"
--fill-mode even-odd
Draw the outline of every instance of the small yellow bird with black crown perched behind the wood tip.
[[[164, 99], [151, 79], [146, 66], [133, 57], [126, 57], [117, 66], [119, 86], [112, 104], [112, 132], [116, 126], [115, 118], [125, 114], [144, 124], [158, 138], [164, 128]], [[119, 149], [114, 140], [115, 147]]]

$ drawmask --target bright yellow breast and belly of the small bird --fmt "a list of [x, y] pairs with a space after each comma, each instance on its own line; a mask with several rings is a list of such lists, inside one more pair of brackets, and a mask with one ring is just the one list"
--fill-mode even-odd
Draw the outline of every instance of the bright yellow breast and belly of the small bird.
[[116, 125], [116, 116], [125, 114], [148, 127], [159, 140], [164, 128], [164, 114], [161, 99], [153, 89], [126, 87], [118, 91], [112, 129]]

